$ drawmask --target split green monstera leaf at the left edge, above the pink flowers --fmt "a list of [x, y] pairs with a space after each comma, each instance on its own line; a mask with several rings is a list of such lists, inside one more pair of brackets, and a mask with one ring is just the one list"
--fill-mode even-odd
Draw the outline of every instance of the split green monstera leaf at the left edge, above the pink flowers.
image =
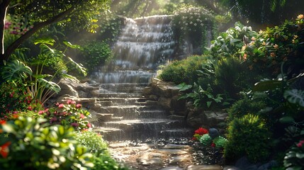
[[28, 75], [32, 75], [33, 72], [32, 69], [26, 66], [26, 64], [23, 62], [20, 62], [19, 60], [13, 60], [12, 62], [6, 64], [1, 74], [2, 78], [6, 81], [14, 79], [22, 81], [22, 79], [26, 79]]

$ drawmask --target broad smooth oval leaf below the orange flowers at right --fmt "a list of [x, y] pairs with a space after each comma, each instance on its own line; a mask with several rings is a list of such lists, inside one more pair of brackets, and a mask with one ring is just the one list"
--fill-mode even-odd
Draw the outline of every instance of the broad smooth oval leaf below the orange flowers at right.
[[257, 84], [254, 84], [252, 91], [271, 91], [278, 89], [282, 86], [282, 81], [279, 80], [266, 80], [259, 81]]

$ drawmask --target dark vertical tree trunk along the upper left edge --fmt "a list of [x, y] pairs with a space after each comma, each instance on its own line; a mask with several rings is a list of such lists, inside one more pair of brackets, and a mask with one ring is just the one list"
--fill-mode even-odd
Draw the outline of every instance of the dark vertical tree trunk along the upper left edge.
[[[3, 0], [0, 3], [0, 38], [1, 38], [1, 45], [0, 45], [0, 59], [3, 59], [4, 56], [4, 26], [5, 26], [5, 17], [6, 17], [6, 11], [9, 7], [9, 2], [11, 0]], [[3, 64], [2, 61], [0, 61], [0, 65]]]

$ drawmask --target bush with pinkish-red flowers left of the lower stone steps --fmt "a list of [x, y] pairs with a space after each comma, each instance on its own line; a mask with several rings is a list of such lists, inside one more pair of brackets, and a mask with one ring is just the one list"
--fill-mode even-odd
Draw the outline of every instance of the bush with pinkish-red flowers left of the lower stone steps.
[[82, 109], [80, 103], [68, 100], [67, 104], [57, 103], [57, 107], [40, 111], [50, 120], [50, 124], [72, 126], [75, 130], [89, 130], [92, 128], [86, 118], [91, 118], [89, 111]]

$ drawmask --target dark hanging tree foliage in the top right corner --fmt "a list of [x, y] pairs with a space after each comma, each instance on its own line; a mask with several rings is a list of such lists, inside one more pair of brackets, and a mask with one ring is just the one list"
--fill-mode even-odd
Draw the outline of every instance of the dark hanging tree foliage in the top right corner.
[[232, 16], [261, 27], [279, 25], [303, 13], [303, 0], [219, 0]]

